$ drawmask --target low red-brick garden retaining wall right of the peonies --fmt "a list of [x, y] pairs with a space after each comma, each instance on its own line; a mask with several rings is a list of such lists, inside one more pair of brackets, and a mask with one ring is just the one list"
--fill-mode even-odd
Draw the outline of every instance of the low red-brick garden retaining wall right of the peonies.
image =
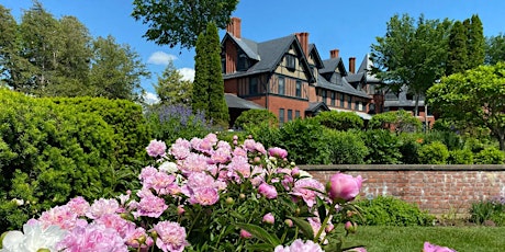
[[[337, 171], [367, 181], [362, 197], [390, 195], [430, 214], [468, 214], [473, 202], [505, 196], [505, 165], [300, 165], [326, 183]], [[456, 213], [457, 211], [457, 213]]]

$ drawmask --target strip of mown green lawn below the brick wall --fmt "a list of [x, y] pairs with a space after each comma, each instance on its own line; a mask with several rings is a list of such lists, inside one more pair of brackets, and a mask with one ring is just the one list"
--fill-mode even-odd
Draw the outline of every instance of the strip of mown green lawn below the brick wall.
[[505, 251], [505, 227], [378, 227], [360, 226], [345, 247], [366, 245], [369, 252], [419, 252], [425, 241], [458, 252]]

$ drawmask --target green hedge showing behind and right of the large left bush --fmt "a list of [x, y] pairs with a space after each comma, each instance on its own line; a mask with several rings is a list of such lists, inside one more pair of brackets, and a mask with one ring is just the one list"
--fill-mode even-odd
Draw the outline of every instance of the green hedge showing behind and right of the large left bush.
[[74, 107], [79, 113], [100, 116], [113, 129], [114, 153], [121, 164], [133, 164], [145, 159], [143, 146], [152, 138], [142, 106], [127, 100], [103, 98], [48, 99], [64, 107]]

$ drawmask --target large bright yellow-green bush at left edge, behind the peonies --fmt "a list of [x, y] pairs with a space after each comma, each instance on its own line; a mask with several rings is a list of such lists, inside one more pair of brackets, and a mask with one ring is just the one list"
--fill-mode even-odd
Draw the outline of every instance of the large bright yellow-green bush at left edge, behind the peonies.
[[[8, 90], [0, 106], [1, 230], [70, 197], [113, 193], [116, 142], [102, 116]], [[24, 205], [13, 209], [14, 198]]]

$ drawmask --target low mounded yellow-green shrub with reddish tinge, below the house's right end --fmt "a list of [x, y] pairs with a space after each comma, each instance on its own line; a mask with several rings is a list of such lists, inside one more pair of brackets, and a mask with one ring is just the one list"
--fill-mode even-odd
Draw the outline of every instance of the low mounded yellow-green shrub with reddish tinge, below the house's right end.
[[385, 128], [399, 133], [414, 133], [422, 128], [422, 123], [411, 112], [400, 110], [374, 115], [368, 126], [372, 129]]

